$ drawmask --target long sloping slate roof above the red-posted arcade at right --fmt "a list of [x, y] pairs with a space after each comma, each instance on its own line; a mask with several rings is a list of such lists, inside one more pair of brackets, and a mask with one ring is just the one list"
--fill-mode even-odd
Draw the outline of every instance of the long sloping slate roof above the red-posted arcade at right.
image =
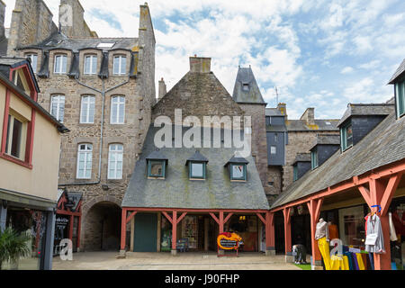
[[334, 184], [363, 175], [380, 166], [405, 158], [405, 118], [395, 112], [345, 153], [338, 150], [324, 164], [294, 182], [272, 204], [272, 209], [320, 192]]

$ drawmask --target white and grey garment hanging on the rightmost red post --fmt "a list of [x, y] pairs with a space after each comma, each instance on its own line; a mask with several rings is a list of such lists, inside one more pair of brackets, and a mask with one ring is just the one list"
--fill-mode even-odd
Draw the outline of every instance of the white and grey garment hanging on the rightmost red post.
[[385, 253], [383, 228], [381, 226], [380, 217], [376, 214], [367, 219], [365, 251], [380, 254]]

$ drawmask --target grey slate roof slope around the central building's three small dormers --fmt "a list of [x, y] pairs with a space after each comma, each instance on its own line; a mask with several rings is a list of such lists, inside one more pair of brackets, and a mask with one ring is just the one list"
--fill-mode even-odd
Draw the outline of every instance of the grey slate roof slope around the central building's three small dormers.
[[[190, 128], [183, 128], [183, 133], [188, 129]], [[122, 207], [241, 210], [269, 208], [251, 156], [247, 157], [247, 161], [252, 163], [247, 166], [247, 182], [230, 182], [229, 171], [224, 165], [235, 155], [235, 148], [198, 148], [210, 161], [207, 164], [207, 179], [204, 181], [189, 180], [188, 169], [184, 166], [186, 160], [195, 153], [195, 148], [160, 148], [159, 151], [168, 158], [166, 179], [148, 179], [146, 157], [156, 150], [154, 137], [157, 130], [159, 128], [153, 125], [149, 127]]]

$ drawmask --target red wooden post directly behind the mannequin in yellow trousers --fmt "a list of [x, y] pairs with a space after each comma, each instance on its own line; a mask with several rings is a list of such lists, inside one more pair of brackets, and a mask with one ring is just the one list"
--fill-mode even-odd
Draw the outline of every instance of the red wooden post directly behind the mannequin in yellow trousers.
[[317, 223], [320, 220], [320, 207], [322, 206], [323, 198], [312, 199], [307, 202], [308, 210], [311, 214], [311, 247], [312, 247], [312, 261], [316, 269], [320, 269], [322, 257], [320, 255], [320, 247], [318, 247], [318, 241], [315, 239], [315, 232], [317, 229]]

